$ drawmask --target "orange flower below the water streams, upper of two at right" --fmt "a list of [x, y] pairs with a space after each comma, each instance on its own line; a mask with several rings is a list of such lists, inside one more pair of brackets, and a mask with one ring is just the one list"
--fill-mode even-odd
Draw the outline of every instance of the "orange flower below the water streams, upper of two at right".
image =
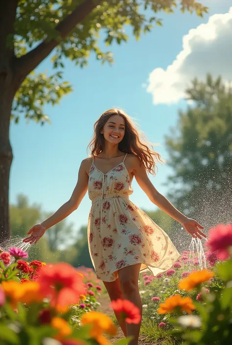
[[198, 285], [208, 281], [214, 276], [214, 273], [208, 270], [192, 272], [189, 276], [179, 281], [181, 290], [191, 291]]

